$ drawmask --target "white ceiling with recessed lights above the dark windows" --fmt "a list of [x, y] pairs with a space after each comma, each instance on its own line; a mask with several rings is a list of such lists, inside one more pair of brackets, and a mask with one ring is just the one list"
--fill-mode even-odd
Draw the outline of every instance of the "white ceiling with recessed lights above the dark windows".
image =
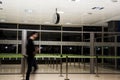
[[54, 25], [56, 8], [57, 25], [107, 26], [120, 20], [120, 0], [0, 0], [0, 22]]

